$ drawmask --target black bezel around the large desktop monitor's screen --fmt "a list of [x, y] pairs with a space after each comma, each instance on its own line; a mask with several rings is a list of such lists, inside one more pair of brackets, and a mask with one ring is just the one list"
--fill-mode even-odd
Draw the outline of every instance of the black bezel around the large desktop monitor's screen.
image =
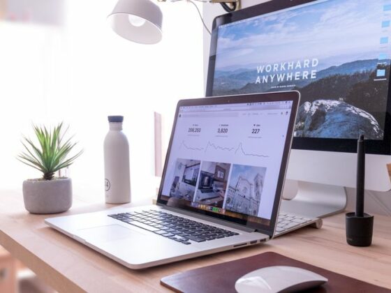
[[[212, 96], [214, 68], [216, 61], [216, 44], [218, 36], [217, 28], [219, 26], [310, 2], [318, 2], [318, 0], [273, 0], [257, 4], [255, 6], [250, 6], [242, 10], [237, 10], [233, 13], [227, 13], [215, 17], [213, 21], [212, 38], [209, 51], [206, 96]], [[388, 78], [389, 85], [387, 107], [385, 109], [384, 137], [383, 140], [366, 140], [367, 153], [391, 155], [391, 78], [390, 76]], [[355, 153], [357, 151], [357, 140], [340, 138], [293, 137], [292, 148], [309, 151], [337, 151]]]

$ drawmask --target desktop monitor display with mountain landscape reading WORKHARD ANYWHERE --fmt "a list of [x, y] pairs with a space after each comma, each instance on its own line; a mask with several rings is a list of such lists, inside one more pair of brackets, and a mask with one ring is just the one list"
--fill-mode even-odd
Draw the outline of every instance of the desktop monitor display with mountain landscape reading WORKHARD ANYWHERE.
[[296, 89], [296, 137], [383, 140], [390, 0], [313, 1], [217, 29], [212, 96]]

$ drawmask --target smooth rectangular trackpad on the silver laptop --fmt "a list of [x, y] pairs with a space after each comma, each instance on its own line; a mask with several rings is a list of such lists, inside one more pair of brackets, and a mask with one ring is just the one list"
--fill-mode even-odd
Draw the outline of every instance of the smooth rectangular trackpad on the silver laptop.
[[86, 241], [113, 241], [131, 237], [140, 237], [142, 232], [120, 225], [105, 225], [78, 230], [77, 236]]

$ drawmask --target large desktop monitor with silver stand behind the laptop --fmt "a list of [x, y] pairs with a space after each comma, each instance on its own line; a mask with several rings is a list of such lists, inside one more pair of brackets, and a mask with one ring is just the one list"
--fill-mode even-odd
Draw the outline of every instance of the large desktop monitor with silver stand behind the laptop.
[[[214, 19], [207, 96], [300, 91], [282, 210], [323, 217], [355, 187], [366, 139], [368, 190], [391, 189], [391, 0], [273, 0]], [[265, 125], [272, 128], [272, 125]]]

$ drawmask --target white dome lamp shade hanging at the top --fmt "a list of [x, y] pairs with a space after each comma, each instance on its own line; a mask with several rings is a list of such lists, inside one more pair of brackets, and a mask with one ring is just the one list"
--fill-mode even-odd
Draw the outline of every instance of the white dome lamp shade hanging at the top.
[[161, 40], [160, 8], [149, 0], [119, 0], [108, 16], [110, 25], [119, 36], [141, 44]]

